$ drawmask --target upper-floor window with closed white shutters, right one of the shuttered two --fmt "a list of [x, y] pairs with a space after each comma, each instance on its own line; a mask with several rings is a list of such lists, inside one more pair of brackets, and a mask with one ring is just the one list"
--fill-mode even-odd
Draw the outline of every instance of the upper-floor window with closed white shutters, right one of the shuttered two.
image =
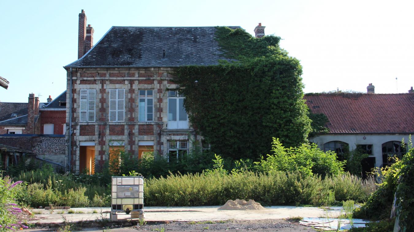
[[109, 121], [125, 120], [125, 89], [109, 90]]

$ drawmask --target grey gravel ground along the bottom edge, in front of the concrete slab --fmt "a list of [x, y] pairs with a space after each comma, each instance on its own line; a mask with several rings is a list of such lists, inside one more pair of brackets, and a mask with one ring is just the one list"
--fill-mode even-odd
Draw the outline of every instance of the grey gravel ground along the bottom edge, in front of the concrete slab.
[[[39, 228], [26, 230], [28, 232], [45, 232], [56, 231], [57, 228], [47, 229]], [[277, 231], [277, 232], [315, 232], [312, 227], [298, 225], [295, 222], [289, 222], [279, 219], [265, 220], [227, 220], [227, 221], [203, 221], [203, 222], [171, 222], [147, 225], [136, 225], [133, 227], [113, 227], [113, 228], [83, 228], [72, 231], [83, 232], [240, 232], [240, 231]]]

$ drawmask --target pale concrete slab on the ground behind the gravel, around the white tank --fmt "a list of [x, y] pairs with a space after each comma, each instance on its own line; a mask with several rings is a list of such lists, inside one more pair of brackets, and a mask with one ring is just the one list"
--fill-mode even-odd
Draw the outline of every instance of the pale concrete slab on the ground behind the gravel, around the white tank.
[[[270, 206], [265, 210], [218, 210], [220, 206], [193, 206], [193, 207], [144, 207], [146, 221], [207, 221], [207, 220], [261, 220], [261, 219], [283, 219], [290, 217], [330, 217], [335, 218], [341, 214], [338, 208], [323, 209], [318, 207], [296, 207], [296, 206]], [[32, 210], [39, 212], [29, 223], [63, 223], [79, 221], [96, 221], [109, 219], [110, 208], [71, 208], [75, 212], [67, 213], [67, 210]], [[92, 213], [96, 211], [97, 213]], [[106, 213], [108, 212], [108, 213]], [[130, 215], [120, 214], [119, 219], [129, 219]]]

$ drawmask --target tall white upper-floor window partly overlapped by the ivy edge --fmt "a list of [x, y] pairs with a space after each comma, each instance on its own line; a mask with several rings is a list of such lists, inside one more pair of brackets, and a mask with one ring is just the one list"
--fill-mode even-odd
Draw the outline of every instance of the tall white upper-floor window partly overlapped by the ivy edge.
[[168, 129], [188, 129], [184, 95], [176, 90], [168, 91]]

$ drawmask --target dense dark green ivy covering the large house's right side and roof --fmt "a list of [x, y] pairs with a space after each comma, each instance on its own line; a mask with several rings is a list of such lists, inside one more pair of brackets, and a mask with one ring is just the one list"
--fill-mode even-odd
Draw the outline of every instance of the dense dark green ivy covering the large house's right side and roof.
[[280, 38], [254, 38], [243, 29], [217, 27], [216, 39], [227, 60], [183, 66], [173, 78], [184, 87], [191, 123], [212, 150], [233, 159], [255, 159], [269, 153], [272, 137], [287, 146], [306, 142], [310, 119], [302, 67], [279, 47]]

